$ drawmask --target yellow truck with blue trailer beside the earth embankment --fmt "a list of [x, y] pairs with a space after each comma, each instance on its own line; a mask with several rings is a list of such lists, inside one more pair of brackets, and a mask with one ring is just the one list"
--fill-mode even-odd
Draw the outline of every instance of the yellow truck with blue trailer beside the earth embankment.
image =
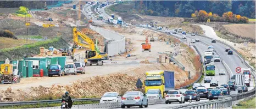
[[164, 93], [174, 89], [174, 71], [153, 70], [146, 72], [146, 79], [143, 81], [145, 92], [148, 89], [160, 89], [162, 98]]

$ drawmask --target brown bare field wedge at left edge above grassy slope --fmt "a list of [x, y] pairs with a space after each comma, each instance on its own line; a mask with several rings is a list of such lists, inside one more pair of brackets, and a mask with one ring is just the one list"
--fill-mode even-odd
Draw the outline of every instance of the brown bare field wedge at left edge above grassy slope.
[[[5, 49], [9, 47], [21, 46], [26, 44], [26, 39], [13, 39], [13, 38], [4, 38], [0, 37], [0, 49]], [[27, 40], [27, 43], [35, 43], [34, 40]]]

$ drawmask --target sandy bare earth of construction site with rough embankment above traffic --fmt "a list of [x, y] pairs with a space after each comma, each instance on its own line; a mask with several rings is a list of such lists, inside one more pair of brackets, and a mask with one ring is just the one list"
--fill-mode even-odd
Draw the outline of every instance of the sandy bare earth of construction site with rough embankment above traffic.
[[[131, 31], [133, 33], [131, 33]], [[1, 99], [0, 101], [24, 101], [37, 100], [38, 98], [59, 98], [65, 91], [69, 91], [70, 95], [75, 98], [85, 96], [101, 96], [104, 92], [116, 91], [124, 92], [126, 90], [136, 89], [135, 83], [138, 78], [144, 80], [144, 73], [148, 70], [171, 70], [175, 71], [175, 87], [180, 87], [182, 83], [187, 82], [187, 72], [178, 68], [176, 65], [169, 63], [160, 64], [155, 62], [159, 56], [158, 52], [170, 51], [170, 45], [165, 42], [155, 41], [151, 42], [152, 52], [141, 52], [141, 43], [144, 42], [145, 35], [155, 34], [155, 32], [144, 31], [143, 29], [133, 28], [121, 33], [126, 38], [131, 40], [131, 47], [134, 47], [130, 54], [136, 56], [112, 57], [112, 61], [105, 61], [103, 66], [87, 66], [85, 75], [68, 75], [63, 77], [31, 77], [24, 78], [20, 83], [1, 85]], [[159, 39], [164, 36], [159, 34]], [[167, 40], [167, 38], [166, 38]], [[77, 53], [82, 53], [80, 51]], [[182, 54], [188, 53], [182, 51]], [[185, 56], [179, 56], [177, 59], [183, 59], [187, 68], [191, 67], [191, 59]], [[141, 61], [149, 60], [149, 64], [140, 63]], [[72, 61], [68, 57], [68, 62]], [[162, 60], [164, 62], [164, 60]], [[191, 68], [192, 70], [194, 68]], [[192, 75], [196, 75], [196, 71], [191, 71]], [[108, 75], [110, 74], [110, 75]], [[40, 86], [40, 87], [38, 87]], [[9, 88], [10, 87], [10, 88]], [[5, 90], [6, 89], [6, 90]], [[19, 92], [19, 93], [17, 93]], [[25, 95], [25, 96], [24, 96]], [[23, 97], [17, 97], [23, 96]]]

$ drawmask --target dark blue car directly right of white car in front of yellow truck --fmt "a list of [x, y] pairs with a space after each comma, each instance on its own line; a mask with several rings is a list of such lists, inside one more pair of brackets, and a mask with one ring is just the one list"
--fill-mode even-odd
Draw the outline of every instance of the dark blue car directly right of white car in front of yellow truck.
[[196, 92], [196, 90], [187, 90], [183, 94], [183, 96], [185, 97], [185, 101], [189, 101], [190, 100], [190, 96], [191, 96], [192, 100], [200, 101], [200, 96]]

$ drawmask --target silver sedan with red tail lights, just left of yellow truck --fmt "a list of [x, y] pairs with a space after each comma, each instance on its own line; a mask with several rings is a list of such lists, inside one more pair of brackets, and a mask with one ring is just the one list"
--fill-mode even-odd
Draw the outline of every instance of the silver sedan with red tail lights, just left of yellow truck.
[[121, 97], [121, 108], [130, 108], [131, 106], [148, 107], [147, 96], [140, 91], [126, 92]]

